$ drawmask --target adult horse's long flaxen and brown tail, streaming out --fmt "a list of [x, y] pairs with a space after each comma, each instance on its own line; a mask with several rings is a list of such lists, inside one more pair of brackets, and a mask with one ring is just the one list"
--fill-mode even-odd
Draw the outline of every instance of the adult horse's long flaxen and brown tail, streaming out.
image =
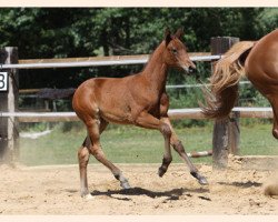
[[207, 105], [201, 105], [207, 118], [227, 117], [238, 99], [238, 82], [245, 75], [245, 60], [255, 42], [234, 44], [220, 59], [210, 78], [210, 89], [203, 90]]

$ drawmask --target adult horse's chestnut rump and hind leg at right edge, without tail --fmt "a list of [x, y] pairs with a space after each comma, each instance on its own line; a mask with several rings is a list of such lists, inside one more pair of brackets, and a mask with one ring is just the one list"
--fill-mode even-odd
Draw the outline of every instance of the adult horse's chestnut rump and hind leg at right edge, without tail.
[[278, 139], [278, 30], [261, 38], [246, 60], [248, 79], [274, 110], [272, 134]]

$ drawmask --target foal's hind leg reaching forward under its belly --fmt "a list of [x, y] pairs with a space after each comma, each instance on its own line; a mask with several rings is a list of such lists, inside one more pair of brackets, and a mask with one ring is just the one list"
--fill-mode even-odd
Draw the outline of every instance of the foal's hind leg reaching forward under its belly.
[[122, 172], [113, 165], [107, 158], [105, 157], [105, 153], [101, 149], [100, 144], [100, 127], [99, 127], [99, 120], [90, 119], [86, 122], [88, 134], [91, 140], [91, 145], [89, 147], [89, 152], [103, 165], [106, 165], [115, 175], [117, 180], [120, 181], [120, 185], [123, 189], [129, 189], [130, 185], [128, 183], [128, 180], [123, 176]]

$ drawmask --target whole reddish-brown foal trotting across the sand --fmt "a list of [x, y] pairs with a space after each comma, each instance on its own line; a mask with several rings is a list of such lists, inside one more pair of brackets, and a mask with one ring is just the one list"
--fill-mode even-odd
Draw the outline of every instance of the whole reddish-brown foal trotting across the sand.
[[72, 105], [88, 131], [78, 151], [81, 196], [91, 198], [87, 181], [90, 154], [112, 172], [123, 189], [130, 188], [122, 172], [106, 159], [101, 150], [100, 134], [109, 122], [159, 130], [165, 138], [165, 154], [158, 171], [159, 176], [166, 173], [172, 160], [170, 150], [172, 145], [188, 164], [190, 173], [201, 184], [207, 183], [185, 152], [167, 114], [169, 108], [169, 98], [166, 93], [168, 69], [178, 67], [187, 72], [196, 69], [180, 40], [181, 34], [181, 30], [173, 36], [166, 30], [165, 40], [155, 50], [141, 72], [125, 78], [93, 78], [76, 90]]

